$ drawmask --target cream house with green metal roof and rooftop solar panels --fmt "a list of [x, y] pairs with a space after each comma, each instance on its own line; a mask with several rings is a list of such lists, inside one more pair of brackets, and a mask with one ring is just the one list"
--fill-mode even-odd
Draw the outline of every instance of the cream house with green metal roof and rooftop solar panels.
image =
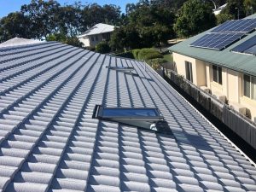
[[177, 73], [256, 121], [256, 15], [170, 47]]

